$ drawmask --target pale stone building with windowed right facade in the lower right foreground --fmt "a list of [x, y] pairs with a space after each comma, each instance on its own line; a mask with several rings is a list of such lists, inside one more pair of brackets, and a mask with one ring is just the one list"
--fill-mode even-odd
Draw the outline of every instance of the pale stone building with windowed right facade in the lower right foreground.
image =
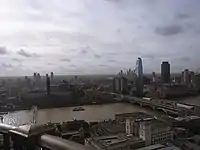
[[173, 139], [171, 127], [164, 122], [151, 119], [140, 122], [139, 137], [145, 141], [146, 146], [161, 144]]

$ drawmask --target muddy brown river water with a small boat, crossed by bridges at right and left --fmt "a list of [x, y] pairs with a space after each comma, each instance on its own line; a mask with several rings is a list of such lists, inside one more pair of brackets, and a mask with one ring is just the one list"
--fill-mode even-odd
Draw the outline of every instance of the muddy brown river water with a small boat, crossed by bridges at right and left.
[[[192, 97], [181, 100], [181, 102], [199, 105], [200, 97]], [[36, 113], [34, 110], [22, 110], [4, 115], [3, 122], [12, 125], [27, 124], [35, 120], [36, 124], [47, 122], [62, 122], [74, 119], [86, 121], [103, 121], [114, 119], [115, 114], [145, 112], [152, 115], [162, 115], [162, 112], [153, 111], [149, 108], [132, 105], [129, 103], [115, 103], [104, 105], [84, 105], [84, 111], [73, 111], [75, 107], [40, 109]], [[35, 114], [35, 115], [34, 115]]]

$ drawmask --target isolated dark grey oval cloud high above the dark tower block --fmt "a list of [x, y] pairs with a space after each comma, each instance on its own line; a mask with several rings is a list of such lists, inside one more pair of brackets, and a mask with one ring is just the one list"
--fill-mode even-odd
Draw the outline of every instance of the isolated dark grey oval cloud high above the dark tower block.
[[157, 27], [155, 33], [162, 36], [171, 36], [183, 32], [183, 27], [180, 25], [169, 25], [164, 27]]

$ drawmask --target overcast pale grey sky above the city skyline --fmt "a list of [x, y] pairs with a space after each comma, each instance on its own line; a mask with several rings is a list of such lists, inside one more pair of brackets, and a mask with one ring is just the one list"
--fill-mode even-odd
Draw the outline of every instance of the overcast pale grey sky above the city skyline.
[[199, 0], [1, 0], [0, 76], [200, 69]]

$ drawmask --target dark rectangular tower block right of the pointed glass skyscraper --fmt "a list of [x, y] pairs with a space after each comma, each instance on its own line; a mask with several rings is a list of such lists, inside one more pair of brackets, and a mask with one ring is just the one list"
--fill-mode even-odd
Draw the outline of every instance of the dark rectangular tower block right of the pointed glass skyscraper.
[[170, 64], [166, 61], [161, 64], [161, 78], [163, 83], [170, 83]]

